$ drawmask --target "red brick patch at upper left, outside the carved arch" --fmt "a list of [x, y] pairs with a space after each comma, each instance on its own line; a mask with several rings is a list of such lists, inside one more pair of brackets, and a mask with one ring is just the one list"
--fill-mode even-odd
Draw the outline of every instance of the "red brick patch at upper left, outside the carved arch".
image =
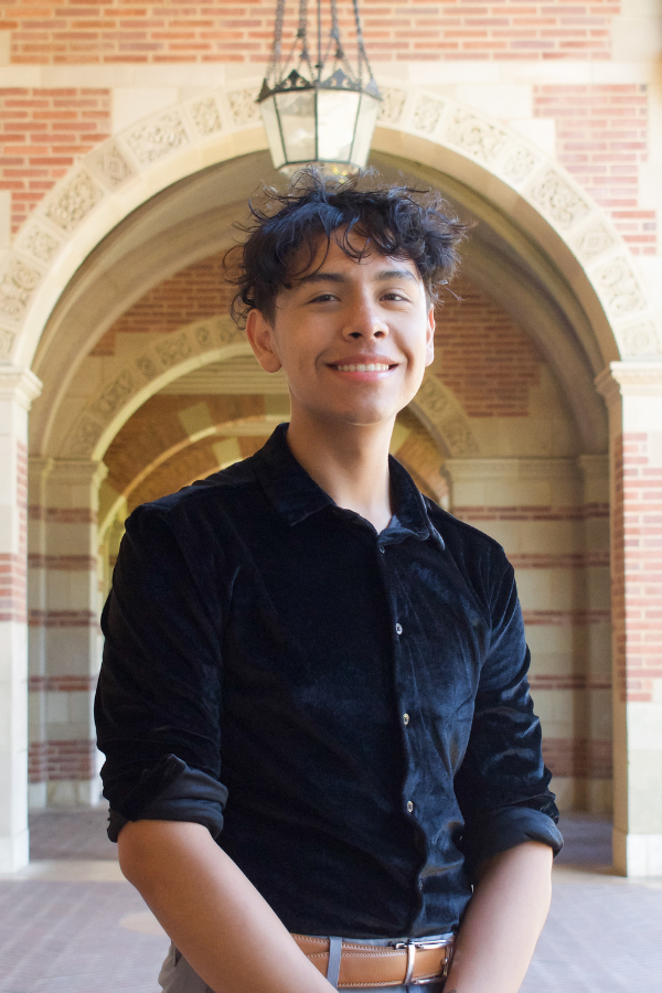
[[0, 190], [11, 190], [13, 232], [109, 132], [107, 89], [0, 89]]

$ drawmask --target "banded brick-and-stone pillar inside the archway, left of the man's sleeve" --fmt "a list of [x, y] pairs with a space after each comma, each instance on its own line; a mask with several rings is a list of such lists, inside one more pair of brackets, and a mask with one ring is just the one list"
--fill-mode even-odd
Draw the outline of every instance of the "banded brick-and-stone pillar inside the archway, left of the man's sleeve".
[[[35, 463], [30, 548], [30, 779], [34, 805], [99, 800], [93, 695], [99, 668], [97, 549], [103, 462]], [[33, 502], [40, 500], [41, 502]]]

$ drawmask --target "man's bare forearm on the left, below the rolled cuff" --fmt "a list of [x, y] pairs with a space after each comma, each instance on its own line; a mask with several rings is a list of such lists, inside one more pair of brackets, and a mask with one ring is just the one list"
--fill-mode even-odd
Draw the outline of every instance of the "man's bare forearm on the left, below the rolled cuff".
[[215, 993], [333, 989], [202, 824], [131, 821], [118, 847], [122, 873]]

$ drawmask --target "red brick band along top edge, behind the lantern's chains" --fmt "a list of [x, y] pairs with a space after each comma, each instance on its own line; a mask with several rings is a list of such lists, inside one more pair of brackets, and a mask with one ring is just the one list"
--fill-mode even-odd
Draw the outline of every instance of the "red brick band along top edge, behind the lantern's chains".
[[[213, 6], [15, 0], [0, 6], [0, 31], [11, 32], [13, 63], [263, 64], [270, 50], [275, 7], [275, 0], [217, 0]], [[297, 8], [289, 0], [286, 42], [296, 31]], [[339, 0], [339, 10], [343, 38], [349, 40], [349, 0]], [[611, 19], [620, 4], [362, 0], [361, 10], [375, 60], [609, 58]]]

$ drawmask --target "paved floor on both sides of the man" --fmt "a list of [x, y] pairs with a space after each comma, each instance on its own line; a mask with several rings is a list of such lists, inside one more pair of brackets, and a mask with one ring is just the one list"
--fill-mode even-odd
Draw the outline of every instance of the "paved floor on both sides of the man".
[[[0, 877], [0, 993], [158, 993], [168, 939], [122, 880], [103, 810], [31, 819], [31, 865]], [[610, 825], [574, 814], [522, 993], [662, 993], [662, 879], [610, 872]]]

